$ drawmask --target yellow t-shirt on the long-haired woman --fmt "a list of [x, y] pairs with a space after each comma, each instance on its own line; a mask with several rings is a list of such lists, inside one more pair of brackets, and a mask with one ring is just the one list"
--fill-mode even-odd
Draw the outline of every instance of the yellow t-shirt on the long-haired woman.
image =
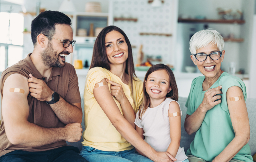
[[[133, 146], [127, 142], [122, 135], [112, 125], [100, 105], [94, 98], [93, 88], [96, 83], [102, 79], [109, 79], [116, 83], [119, 83], [123, 87], [123, 91], [131, 103], [135, 113], [137, 113], [140, 104], [143, 99], [143, 82], [138, 78], [133, 80], [133, 97], [130, 90], [130, 86], [124, 84], [122, 80], [112, 74], [109, 70], [101, 67], [95, 67], [88, 71], [86, 77], [86, 83], [84, 87], [84, 125], [85, 131], [83, 132], [84, 146], [90, 146], [102, 151], [125, 151], [130, 150]], [[110, 90], [110, 84], [109, 90]], [[104, 94], [102, 94], [104, 97]], [[123, 115], [120, 103], [113, 96], [113, 99]]]

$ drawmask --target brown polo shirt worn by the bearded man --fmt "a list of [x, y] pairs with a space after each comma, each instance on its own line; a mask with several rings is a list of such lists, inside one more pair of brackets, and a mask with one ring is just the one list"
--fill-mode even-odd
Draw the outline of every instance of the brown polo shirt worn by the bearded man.
[[[42, 76], [39, 71], [36, 69], [34, 64], [30, 59], [30, 54], [23, 59], [20, 60], [17, 64], [5, 69], [1, 76], [1, 101], [3, 99], [3, 87], [4, 82], [8, 76], [14, 73], [21, 74], [26, 78], [29, 78], [29, 73], [31, 73], [34, 77], [46, 82], [44, 76]], [[66, 66], [63, 68], [52, 68], [52, 72], [50, 78], [47, 82], [49, 88], [55, 92], [57, 92], [61, 97], [63, 97], [69, 103], [81, 103], [80, 92], [78, 88], [78, 80], [77, 74], [74, 67], [66, 63]], [[15, 98], [14, 98], [15, 100]], [[29, 105], [29, 115], [28, 121], [31, 123], [35, 123], [38, 126], [45, 128], [52, 127], [65, 127], [65, 124], [62, 123], [54, 111], [51, 109], [50, 105], [48, 105], [45, 101], [39, 101], [36, 98], [32, 97], [30, 94], [28, 95], [28, 105]], [[1, 131], [0, 131], [0, 156], [14, 151], [14, 150], [24, 150], [24, 151], [47, 151], [50, 149], [55, 149], [61, 146], [65, 146], [66, 141], [59, 141], [56, 143], [39, 146], [39, 147], [25, 147], [21, 145], [13, 145], [7, 139], [5, 128], [4, 128], [4, 120], [2, 116], [2, 102], [1, 102]], [[32, 135], [32, 134], [31, 134]]]

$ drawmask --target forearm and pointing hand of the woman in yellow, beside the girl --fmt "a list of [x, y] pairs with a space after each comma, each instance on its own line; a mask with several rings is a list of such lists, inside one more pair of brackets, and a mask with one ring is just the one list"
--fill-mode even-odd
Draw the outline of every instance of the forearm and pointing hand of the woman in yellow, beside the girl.
[[131, 103], [129, 102], [128, 98], [126, 97], [122, 85], [111, 80], [106, 79], [108, 83], [111, 84], [111, 95], [115, 96], [116, 100], [120, 103], [123, 111], [124, 118], [129, 121], [129, 123], [135, 128], [135, 112], [132, 108]]

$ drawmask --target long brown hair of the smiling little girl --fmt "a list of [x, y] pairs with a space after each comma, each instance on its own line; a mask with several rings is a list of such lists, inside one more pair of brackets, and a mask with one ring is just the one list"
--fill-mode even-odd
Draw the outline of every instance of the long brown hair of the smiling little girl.
[[173, 71], [168, 67], [167, 65], [164, 64], [156, 64], [150, 67], [145, 75], [144, 82], [143, 82], [143, 102], [140, 105], [139, 108], [139, 119], [141, 119], [142, 115], [145, 113], [147, 110], [148, 106], [150, 105], [150, 97], [147, 94], [146, 87], [145, 87], [145, 81], [147, 80], [149, 74], [151, 74], [154, 71], [157, 70], [165, 70], [169, 76], [169, 82], [170, 86], [172, 87], [172, 90], [167, 93], [166, 97], [172, 98], [175, 101], [178, 101], [179, 95], [178, 95], [178, 87], [175, 81], [175, 77], [173, 74]]

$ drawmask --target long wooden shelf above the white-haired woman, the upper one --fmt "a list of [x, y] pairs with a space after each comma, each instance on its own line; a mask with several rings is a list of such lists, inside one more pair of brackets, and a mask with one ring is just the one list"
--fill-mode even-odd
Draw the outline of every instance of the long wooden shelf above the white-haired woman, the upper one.
[[178, 22], [194, 22], [194, 23], [238, 23], [238, 24], [243, 24], [245, 23], [244, 20], [238, 20], [238, 19], [233, 19], [233, 20], [225, 20], [225, 19], [178, 19]]

